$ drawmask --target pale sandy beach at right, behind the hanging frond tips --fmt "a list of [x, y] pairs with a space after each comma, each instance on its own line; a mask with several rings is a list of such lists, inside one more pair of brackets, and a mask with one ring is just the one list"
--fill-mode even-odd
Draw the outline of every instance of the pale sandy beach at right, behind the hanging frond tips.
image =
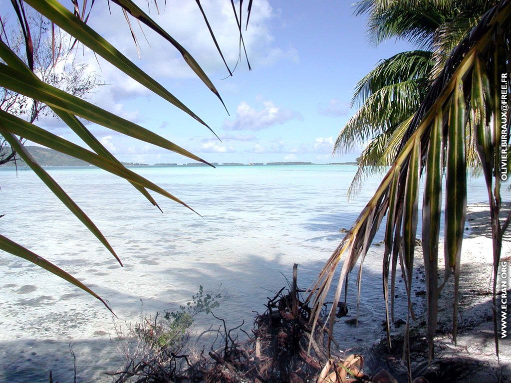
[[[501, 217], [508, 211], [509, 204], [501, 210]], [[467, 381], [499, 381], [499, 376], [502, 381], [506, 381], [511, 379], [511, 337], [508, 336], [499, 342], [499, 365], [495, 354], [493, 333], [493, 247], [490, 210], [487, 203], [469, 206], [466, 227], [469, 231], [462, 245], [460, 277], [462, 290], [460, 290], [459, 300], [460, 327], [457, 345], [451, 342], [449, 336], [437, 336], [437, 352], [442, 357], [463, 357], [479, 363], [481, 370], [474, 371]], [[511, 258], [511, 235], [507, 231], [502, 241], [501, 260], [509, 258]], [[446, 288], [452, 291], [452, 287], [453, 281], [450, 281]], [[439, 302], [440, 328], [447, 326], [449, 329], [452, 323], [452, 301], [448, 297], [449, 294], [443, 294]]]

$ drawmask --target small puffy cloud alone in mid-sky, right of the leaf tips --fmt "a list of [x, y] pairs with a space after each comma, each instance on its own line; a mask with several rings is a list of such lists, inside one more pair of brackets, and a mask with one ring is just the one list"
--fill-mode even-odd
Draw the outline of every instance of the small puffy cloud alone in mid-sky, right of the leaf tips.
[[263, 109], [254, 109], [245, 101], [242, 101], [236, 109], [236, 118], [225, 119], [223, 128], [225, 130], [251, 130], [257, 131], [269, 128], [277, 124], [284, 124], [295, 118], [302, 118], [301, 115], [291, 109], [275, 106], [271, 101], [263, 101]]

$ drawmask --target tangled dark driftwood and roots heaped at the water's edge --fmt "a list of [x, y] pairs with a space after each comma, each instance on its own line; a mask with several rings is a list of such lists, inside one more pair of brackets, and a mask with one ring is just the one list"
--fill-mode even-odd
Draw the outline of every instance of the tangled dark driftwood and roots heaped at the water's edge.
[[[327, 333], [316, 326], [311, 334], [311, 310], [299, 297], [296, 265], [293, 281], [273, 298], [266, 311], [254, 319], [252, 333], [227, 330], [225, 321], [218, 330], [222, 347], [204, 349], [198, 355], [177, 354], [162, 348], [150, 359], [133, 361], [123, 371], [112, 373], [116, 383], [352, 383], [394, 382], [386, 371], [375, 377], [364, 374], [361, 355], [332, 354], [327, 347]], [[325, 310], [325, 313], [327, 311]], [[240, 342], [235, 330], [245, 332]], [[309, 350], [310, 342], [310, 352]], [[216, 343], [216, 342], [215, 342]], [[215, 344], [214, 343], [214, 344]], [[338, 347], [337, 347], [338, 349]], [[393, 379], [393, 380], [392, 380]]]

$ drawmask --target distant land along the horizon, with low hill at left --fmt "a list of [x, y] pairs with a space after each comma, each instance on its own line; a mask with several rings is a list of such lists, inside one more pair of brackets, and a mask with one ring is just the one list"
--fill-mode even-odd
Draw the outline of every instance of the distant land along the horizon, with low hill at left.
[[[34, 157], [34, 159], [39, 163], [41, 166], [92, 166], [88, 162], [82, 161], [80, 159], [68, 156], [67, 154], [59, 153], [53, 149], [43, 148], [39, 146], [26, 146], [29, 153]], [[10, 147], [4, 147], [3, 153], [10, 153]], [[182, 165], [179, 165], [175, 162], [158, 162], [154, 165], [149, 165], [147, 163], [141, 163], [141, 162], [121, 162], [125, 166], [189, 166], [189, 167], [195, 167], [195, 166], [208, 166], [205, 163], [202, 162], [189, 162], [189, 163], [183, 163]], [[291, 162], [267, 162], [266, 164], [263, 162], [250, 162], [248, 164], [241, 163], [241, 162], [223, 162], [219, 164], [218, 162], [212, 163], [214, 166], [278, 166], [278, 165], [319, 165], [317, 163], [313, 162], [301, 162], [301, 161], [291, 161]], [[357, 162], [331, 162], [327, 163], [326, 165], [357, 165]], [[2, 166], [27, 166], [25, 161], [18, 160], [16, 163], [14, 162], [8, 162], [5, 165]]]

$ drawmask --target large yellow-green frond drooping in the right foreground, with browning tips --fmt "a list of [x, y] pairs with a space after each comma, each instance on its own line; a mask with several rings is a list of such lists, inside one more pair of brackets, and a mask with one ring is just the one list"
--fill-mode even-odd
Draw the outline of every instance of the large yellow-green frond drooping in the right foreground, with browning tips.
[[[417, 222], [417, 187], [426, 174], [423, 200], [423, 252], [426, 256], [428, 285], [428, 334], [432, 348], [432, 334], [436, 327], [437, 300], [440, 289], [436, 286], [438, 265], [437, 240], [439, 236], [440, 186], [444, 176], [442, 153], [445, 151], [447, 201], [445, 204], [445, 258], [447, 275], [454, 274], [453, 338], [457, 333], [457, 298], [459, 294], [460, 250], [467, 203], [467, 125], [475, 135], [479, 160], [483, 167], [490, 200], [492, 221], [494, 278], [494, 305], [496, 304], [497, 266], [502, 247], [502, 235], [511, 221], [511, 213], [503, 222], [499, 220], [501, 207], [500, 169], [495, 166], [501, 147], [500, 74], [505, 73], [511, 59], [506, 41], [511, 37], [511, 0], [503, 0], [490, 9], [478, 25], [453, 50], [440, 75], [432, 83], [421, 106], [411, 118], [403, 134], [396, 159], [383, 178], [374, 196], [369, 200], [350, 231], [323, 267], [310, 289], [307, 301], [311, 302], [311, 323], [315, 325], [333, 282], [333, 275], [341, 259], [343, 266], [330, 310], [330, 334], [335, 309], [345, 276], [358, 259], [363, 261], [365, 251], [373, 241], [383, 216], [388, 221], [385, 238], [384, 282], [388, 282], [390, 254], [403, 246], [405, 285], [410, 302], [410, 278], [415, 246]], [[507, 79], [509, 89], [509, 79]], [[509, 90], [508, 93], [509, 94]], [[473, 123], [468, 124], [470, 114]], [[506, 118], [508, 115], [505, 116]], [[390, 222], [390, 224], [389, 224]], [[403, 242], [401, 241], [403, 238]], [[397, 241], [396, 241], [397, 239]], [[393, 256], [393, 255], [392, 255]], [[392, 270], [395, 275], [396, 270]], [[358, 279], [360, 281], [360, 278]], [[388, 288], [384, 288], [387, 302]], [[409, 305], [409, 309], [410, 309]], [[387, 309], [387, 320], [389, 318]], [[388, 323], [387, 323], [388, 328]], [[408, 326], [407, 326], [408, 328]], [[494, 311], [495, 346], [498, 355], [497, 322]], [[405, 342], [406, 345], [406, 342]], [[405, 350], [406, 351], [406, 350]], [[409, 348], [408, 348], [409, 351]], [[430, 355], [433, 350], [430, 349]]]

